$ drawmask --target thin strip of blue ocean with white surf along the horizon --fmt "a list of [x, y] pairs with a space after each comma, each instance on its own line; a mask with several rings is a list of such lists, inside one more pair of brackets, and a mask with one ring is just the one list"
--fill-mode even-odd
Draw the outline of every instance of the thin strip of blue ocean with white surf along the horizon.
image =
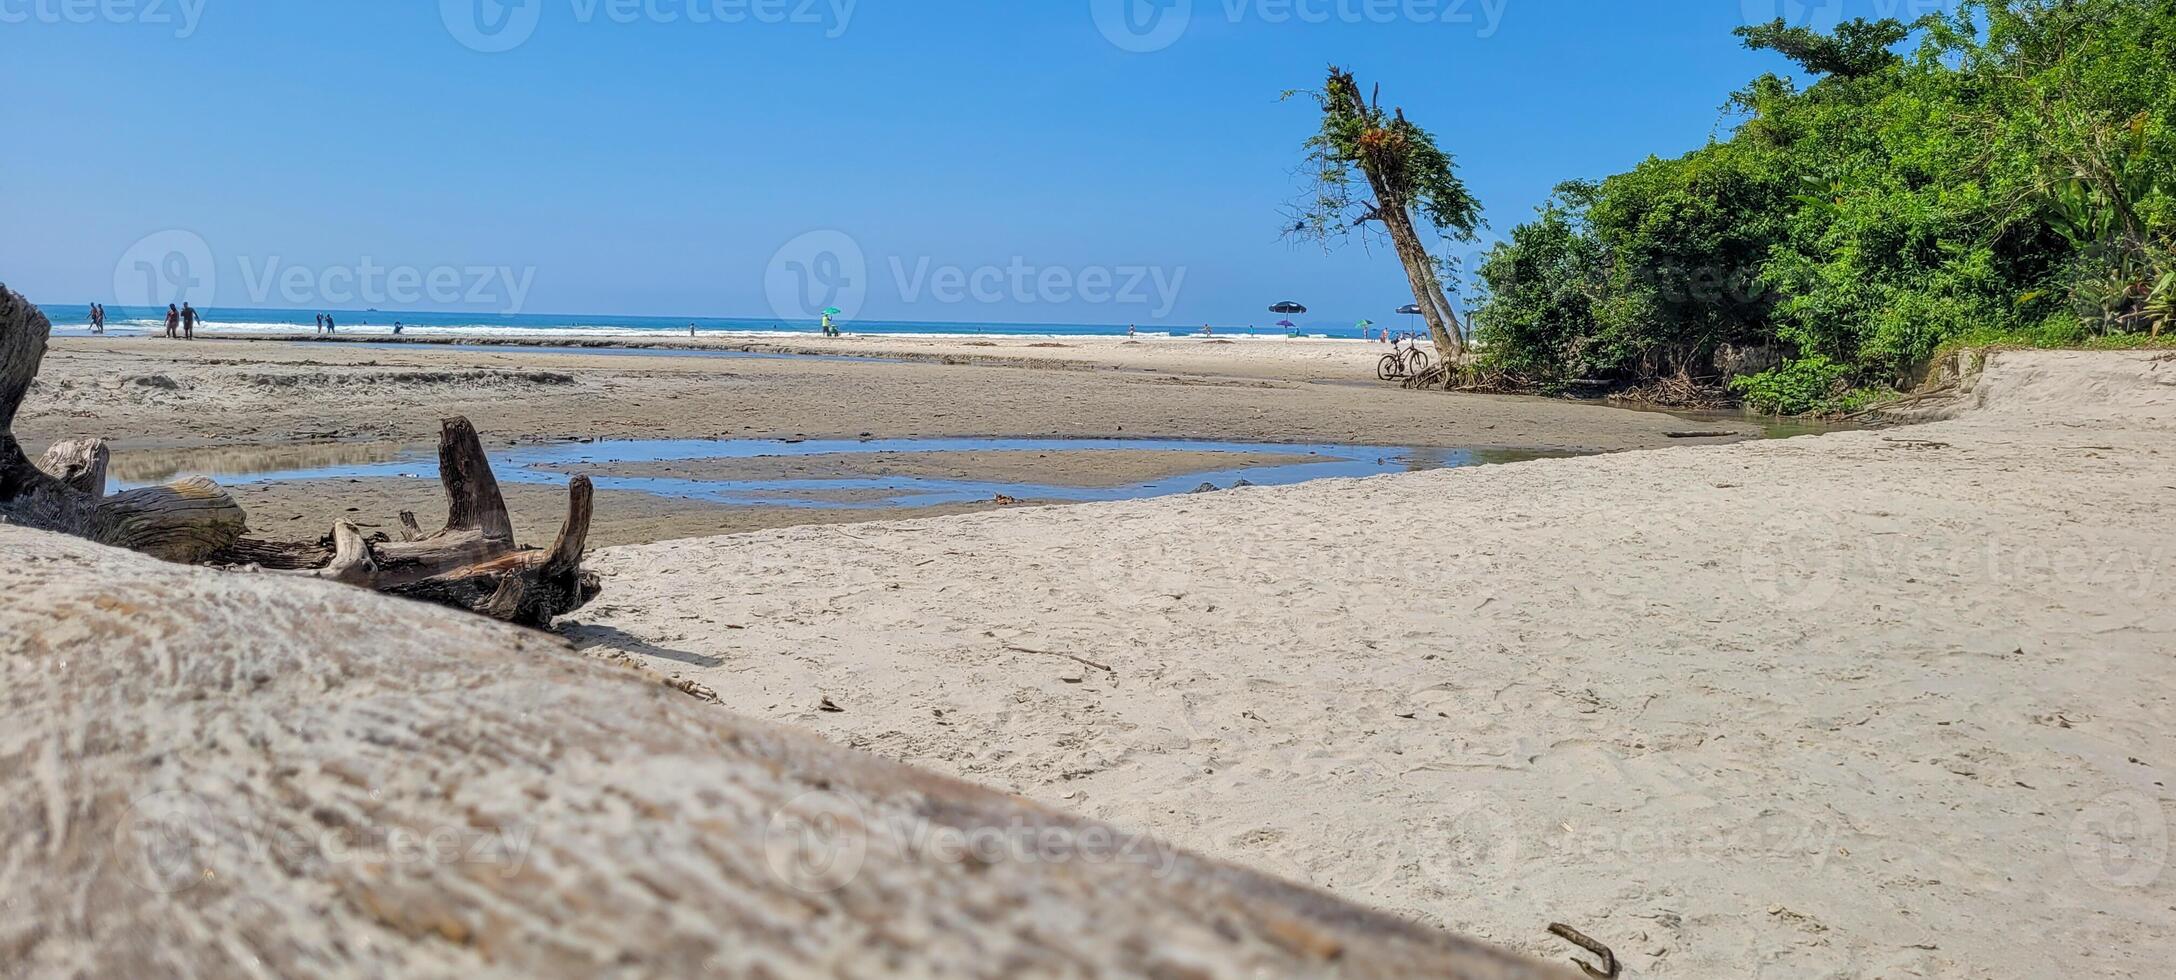
[[[91, 329], [91, 307], [87, 305], [41, 305], [46, 318], [52, 320], [57, 333], [81, 335]], [[226, 309], [226, 307], [205, 307], [200, 309], [202, 322], [198, 329], [211, 335], [220, 333], [311, 333], [318, 329], [316, 309]], [[775, 318], [740, 318], [740, 316], [594, 316], [594, 314], [418, 314], [418, 311], [333, 311], [333, 322], [339, 333], [357, 335], [392, 335], [394, 322], [403, 327], [405, 335], [418, 338], [685, 338], [692, 324], [698, 335], [714, 338], [779, 338], [779, 335], [805, 335], [818, 333], [818, 324], [812, 322], [781, 322]], [[923, 322], [923, 320], [840, 320], [846, 333], [883, 333], [894, 338], [957, 338], [957, 335], [990, 335], [990, 338], [1123, 338], [1127, 324], [1090, 324], [1090, 322]], [[165, 307], [118, 307], [107, 305], [107, 333], [163, 333], [165, 331]], [[1199, 324], [1140, 324], [1145, 335], [1197, 335]], [[1288, 335], [1284, 327], [1275, 322], [1260, 324], [1216, 324], [1219, 335], [1264, 335], [1282, 338]], [[1303, 327], [1306, 338], [1327, 338], [1327, 335], [1358, 335], [1358, 331], [1347, 329], [1345, 333], [1323, 333], [1321, 329]]]

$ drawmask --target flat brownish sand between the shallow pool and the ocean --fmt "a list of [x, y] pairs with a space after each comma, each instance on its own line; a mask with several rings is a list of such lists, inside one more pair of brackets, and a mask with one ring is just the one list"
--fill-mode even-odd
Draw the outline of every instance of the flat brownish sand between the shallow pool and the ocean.
[[[61, 338], [15, 433], [107, 436], [118, 451], [289, 442], [431, 444], [466, 414], [522, 438], [1149, 436], [1445, 449], [1623, 451], [1671, 431], [1760, 433], [1652, 412], [1373, 381], [1371, 346], [1234, 344], [1245, 359], [1110, 346], [1166, 370], [707, 359], [157, 338]], [[842, 348], [844, 351], [844, 348]], [[1027, 355], [1034, 351], [1014, 351]], [[1336, 366], [1325, 366], [1334, 359]], [[1021, 362], [1031, 364], [1031, 362]], [[1245, 372], [1238, 372], [1245, 368]]]

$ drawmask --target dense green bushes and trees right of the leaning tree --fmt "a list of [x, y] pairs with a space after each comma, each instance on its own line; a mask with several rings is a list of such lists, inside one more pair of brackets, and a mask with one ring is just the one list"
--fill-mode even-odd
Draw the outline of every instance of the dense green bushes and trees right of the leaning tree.
[[1739, 37], [1804, 78], [1730, 96], [1728, 139], [1558, 187], [1478, 270], [1482, 370], [1728, 383], [1802, 414], [1963, 340], [2176, 335], [2176, 0]]

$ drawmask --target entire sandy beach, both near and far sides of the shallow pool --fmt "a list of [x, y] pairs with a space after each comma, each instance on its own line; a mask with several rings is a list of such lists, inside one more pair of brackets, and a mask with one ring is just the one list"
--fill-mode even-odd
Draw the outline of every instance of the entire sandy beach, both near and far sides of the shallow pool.
[[[2156, 976], [2176, 956], [2176, 362], [2002, 355], [1928, 425], [1752, 440], [1747, 420], [1351, 383], [1364, 344], [1105, 342], [1062, 364], [1014, 344], [942, 364], [962, 348], [61, 340], [17, 431], [111, 433], [115, 475], [146, 481], [398, 460], [448, 414], [496, 446], [994, 433], [1602, 453], [1084, 505], [603, 492], [592, 540], [622, 547], [592, 558], [605, 597], [566, 629], [733, 712], [1408, 921], [1551, 958], [1541, 926], [1569, 921], [1628, 976]], [[1199, 455], [590, 470], [1088, 488]], [[440, 507], [429, 464], [235, 497], [285, 536]], [[509, 486], [509, 503], [535, 536], [564, 494]]]

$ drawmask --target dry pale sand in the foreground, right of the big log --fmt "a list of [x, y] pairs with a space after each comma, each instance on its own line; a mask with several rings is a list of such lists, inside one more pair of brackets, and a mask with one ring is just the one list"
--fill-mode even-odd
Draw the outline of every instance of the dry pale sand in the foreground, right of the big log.
[[2167, 976], [2176, 362], [2004, 355], [1976, 399], [614, 549], [581, 636], [1517, 950], [1567, 921], [1628, 976]]

